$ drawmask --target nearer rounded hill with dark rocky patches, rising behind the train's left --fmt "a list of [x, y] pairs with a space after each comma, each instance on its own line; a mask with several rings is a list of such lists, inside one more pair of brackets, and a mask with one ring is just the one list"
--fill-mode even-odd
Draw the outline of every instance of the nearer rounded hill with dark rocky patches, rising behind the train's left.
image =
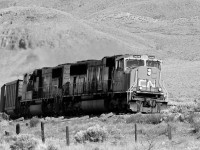
[[0, 67], [5, 78], [42, 66], [131, 52], [126, 43], [65, 12], [10, 7], [0, 10], [0, 14]]

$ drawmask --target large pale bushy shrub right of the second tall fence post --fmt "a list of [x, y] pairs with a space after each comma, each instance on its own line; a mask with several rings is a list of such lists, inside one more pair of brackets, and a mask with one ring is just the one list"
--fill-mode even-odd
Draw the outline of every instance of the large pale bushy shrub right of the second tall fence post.
[[90, 142], [103, 142], [106, 140], [108, 135], [107, 130], [104, 127], [95, 125], [89, 127], [87, 130], [82, 130], [76, 133], [74, 136], [76, 142], [83, 143], [86, 141]]

